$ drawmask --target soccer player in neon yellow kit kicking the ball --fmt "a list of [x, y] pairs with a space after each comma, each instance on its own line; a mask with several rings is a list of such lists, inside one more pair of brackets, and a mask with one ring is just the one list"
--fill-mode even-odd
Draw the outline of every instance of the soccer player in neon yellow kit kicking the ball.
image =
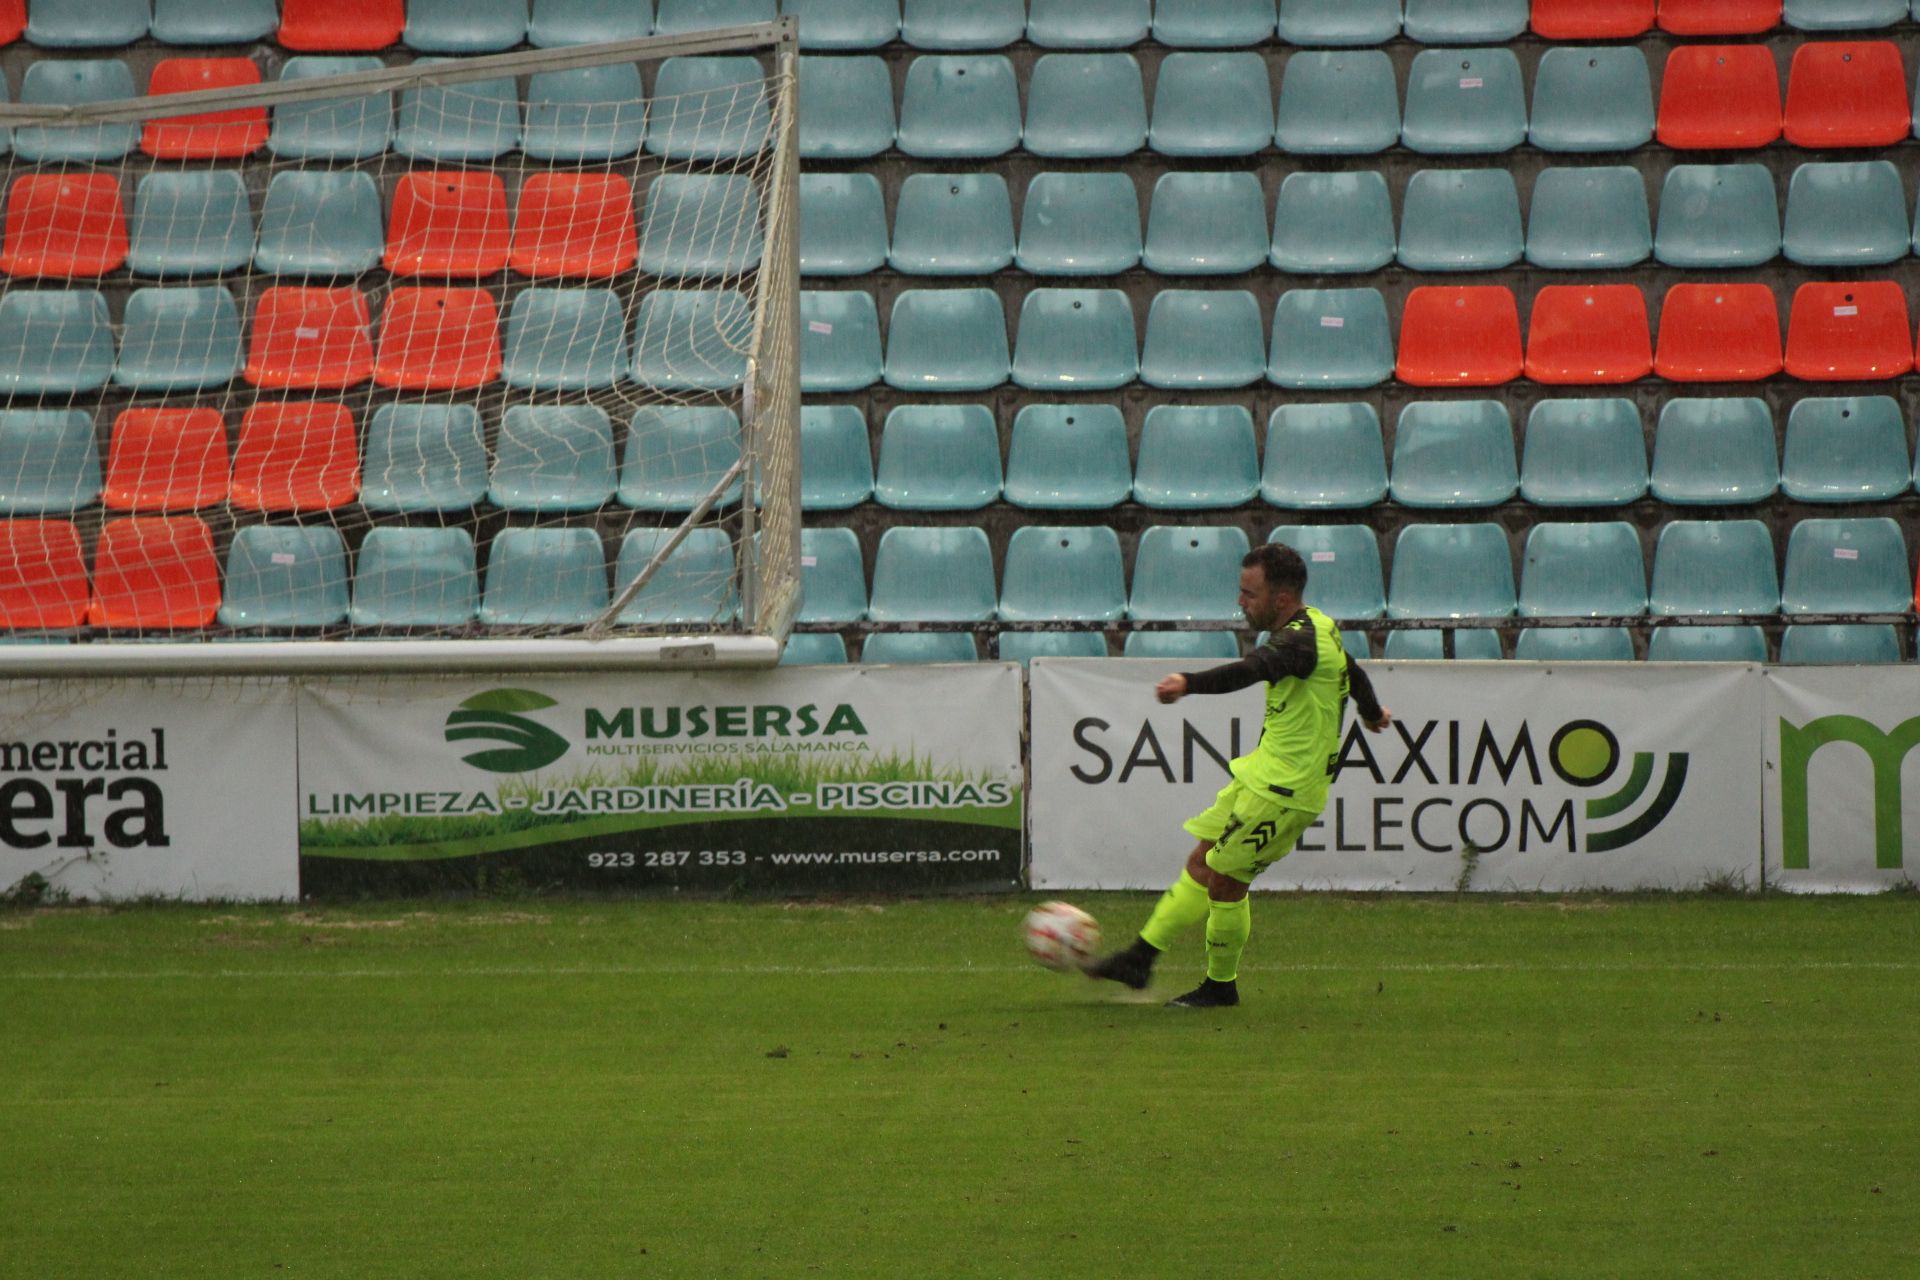
[[1188, 693], [1235, 693], [1265, 681], [1267, 714], [1260, 745], [1233, 762], [1233, 781], [1212, 808], [1187, 819], [1187, 831], [1200, 839], [1187, 869], [1160, 896], [1133, 946], [1096, 961], [1092, 977], [1144, 988], [1160, 954], [1204, 919], [1206, 981], [1169, 1004], [1240, 1004], [1235, 981], [1252, 929], [1246, 890], [1292, 852], [1327, 808], [1348, 697], [1369, 731], [1394, 722], [1373, 681], [1340, 647], [1340, 628], [1302, 603], [1306, 589], [1308, 566], [1298, 551], [1283, 543], [1256, 547], [1240, 560], [1240, 612], [1250, 628], [1267, 631], [1265, 643], [1238, 662], [1167, 676], [1154, 687], [1162, 702], [1179, 702]]

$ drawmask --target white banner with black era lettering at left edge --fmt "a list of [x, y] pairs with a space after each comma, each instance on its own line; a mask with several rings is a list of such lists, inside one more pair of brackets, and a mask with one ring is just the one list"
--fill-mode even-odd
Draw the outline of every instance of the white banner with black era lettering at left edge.
[[284, 681], [0, 685], [0, 892], [294, 898], [294, 800]]

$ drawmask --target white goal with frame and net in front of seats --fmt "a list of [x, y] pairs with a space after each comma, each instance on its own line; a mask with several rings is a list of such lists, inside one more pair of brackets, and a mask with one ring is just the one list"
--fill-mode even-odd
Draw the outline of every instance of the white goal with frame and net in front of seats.
[[776, 660], [791, 21], [102, 67], [0, 107], [8, 670]]

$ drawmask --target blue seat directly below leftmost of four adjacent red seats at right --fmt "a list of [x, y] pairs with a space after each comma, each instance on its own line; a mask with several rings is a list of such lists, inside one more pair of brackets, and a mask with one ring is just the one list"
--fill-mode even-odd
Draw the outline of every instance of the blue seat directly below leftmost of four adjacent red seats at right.
[[1394, 428], [1402, 507], [1498, 507], [1521, 487], [1513, 418], [1498, 399], [1417, 399]]

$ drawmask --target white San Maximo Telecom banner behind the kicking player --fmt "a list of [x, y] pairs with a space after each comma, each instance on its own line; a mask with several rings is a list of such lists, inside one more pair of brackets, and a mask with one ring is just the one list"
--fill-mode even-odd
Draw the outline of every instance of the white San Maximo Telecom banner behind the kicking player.
[[[1037, 889], [1158, 889], [1260, 741], [1261, 693], [1162, 706], [1167, 662], [1033, 662]], [[1321, 821], [1263, 889], [1753, 887], [1761, 668], [1367, 664]]]

